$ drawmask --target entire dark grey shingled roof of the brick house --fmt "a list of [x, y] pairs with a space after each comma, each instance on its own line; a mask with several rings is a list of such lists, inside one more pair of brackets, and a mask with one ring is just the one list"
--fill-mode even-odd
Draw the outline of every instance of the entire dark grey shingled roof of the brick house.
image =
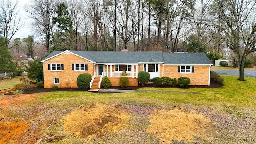
[[[44, 60], [60, 54], [54, 51]], [[164, 63], [164, 64], [212, 64], [204, 53], [162, 52], [113, 52], [113, 51], [70, 51], [97, 63]]]

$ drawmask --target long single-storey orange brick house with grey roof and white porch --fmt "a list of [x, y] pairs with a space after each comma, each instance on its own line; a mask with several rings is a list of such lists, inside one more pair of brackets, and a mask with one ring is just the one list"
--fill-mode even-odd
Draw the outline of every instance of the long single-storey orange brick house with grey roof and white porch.
[[41, 61], [44, 66], [44, 88], [77, 87], [79, 74], [92, 75], [90, 88], [99, 88], [108, 76], [112, 86], [119, 85], [126, 70], [130, 86], [138, 86], [138, 72], [154, 77], [188, 77], [190, 85], [209, 85], [212, 63], [204, 53], [54, 51]]

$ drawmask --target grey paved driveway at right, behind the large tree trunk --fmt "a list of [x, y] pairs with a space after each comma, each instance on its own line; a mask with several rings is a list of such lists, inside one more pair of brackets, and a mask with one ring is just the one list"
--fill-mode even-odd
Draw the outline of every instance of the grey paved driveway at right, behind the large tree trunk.
[[[213, 70], [220, 75], [234, 75], [239, 76], [238, 70]], [[244, 76], [256, 78], [256, 70], [244, 70]]]

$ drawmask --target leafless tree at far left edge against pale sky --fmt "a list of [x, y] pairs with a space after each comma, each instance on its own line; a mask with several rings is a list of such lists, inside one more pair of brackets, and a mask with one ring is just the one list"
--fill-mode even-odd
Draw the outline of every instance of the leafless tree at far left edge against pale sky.
[[21, 16], [18, 10], [18, 1], [0, 1], [0, 30], [5, 38], [5, 46], [8, 47], [14, 34], [22, 27]]

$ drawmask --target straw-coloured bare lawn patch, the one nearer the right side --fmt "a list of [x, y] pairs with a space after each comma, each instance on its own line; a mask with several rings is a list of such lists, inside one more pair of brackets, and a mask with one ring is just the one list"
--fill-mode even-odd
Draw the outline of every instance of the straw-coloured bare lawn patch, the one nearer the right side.
[[150, 114], [151, 125], [146, 130], [156, 134], [160, 142], [172, 144], [175, 141], [206, 142], [216, 135], [214, 124], [194, 110], [154, 110]]

